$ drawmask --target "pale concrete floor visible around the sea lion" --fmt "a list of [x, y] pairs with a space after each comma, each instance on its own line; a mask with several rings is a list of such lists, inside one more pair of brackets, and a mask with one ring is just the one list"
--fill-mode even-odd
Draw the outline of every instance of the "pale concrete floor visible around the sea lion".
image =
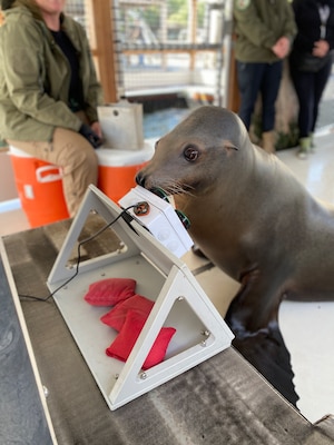
[[[334, 126], [316, 134], [316, 150], [308, 159], [299, 160], [294, 149], [278, 151], [277, 156], [314, 196], [334, 205]], [[0, 236], [29, 228], [17, 201], [12, 207], [1, 206], [1, 209]], [[191, 253], [186, 254], [184, 260], [190, 269], [203, 265]], [[196, 278], [217, 309], [225, 314], [238, 284], [216, 268]], [[296, 390], [301, 397], [298, 407], [311, 422], [334, 414], [333, 322], [334, 303], [284, 301], [281, 306], [279, 324], [292, 354]]]

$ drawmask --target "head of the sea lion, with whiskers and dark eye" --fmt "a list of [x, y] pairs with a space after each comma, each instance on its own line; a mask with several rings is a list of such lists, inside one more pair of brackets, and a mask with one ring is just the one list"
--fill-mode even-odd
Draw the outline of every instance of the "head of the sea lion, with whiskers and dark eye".
[[232, 171], [237, 175], [249, 146], [237, 115], [220, 107], [200, 107], [156, 142], [151, 160], [136, 181], [168, 195], [205, 195], [216, 181], [229, 181]]

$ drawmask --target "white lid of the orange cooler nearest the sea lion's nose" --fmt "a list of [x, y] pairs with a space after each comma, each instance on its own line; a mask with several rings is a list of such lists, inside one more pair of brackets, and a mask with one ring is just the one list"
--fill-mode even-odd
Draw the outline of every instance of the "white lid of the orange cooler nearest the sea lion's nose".
[[154, 145], [145, 141], [139, 150], [118, 150], [116, 148], [98, 148], [96, 150], [99, 166], [125, 167], [146, 162], [154, 155]]

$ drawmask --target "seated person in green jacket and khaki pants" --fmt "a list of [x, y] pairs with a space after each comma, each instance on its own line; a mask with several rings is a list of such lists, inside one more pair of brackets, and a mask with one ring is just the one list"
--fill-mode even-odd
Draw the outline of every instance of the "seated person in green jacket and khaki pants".
[[0, 138], [61, 167], [75, 216], [97, 184], [102, 90], [85, 29], [62, 12], [65, 2], [1, 1]]

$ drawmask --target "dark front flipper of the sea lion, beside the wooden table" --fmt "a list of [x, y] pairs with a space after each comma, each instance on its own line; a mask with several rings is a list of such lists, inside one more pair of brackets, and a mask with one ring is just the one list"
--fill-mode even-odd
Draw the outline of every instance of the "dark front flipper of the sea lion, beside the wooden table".
[[277, 322], [282, 299], [277, 275], [266, 275], [272, 279], [262, 279], [258, 270], [244, 276], [225, 320], [235, 335], [233, 346], [296, 406], [299, 397], [293, 384], [291, 355]]

